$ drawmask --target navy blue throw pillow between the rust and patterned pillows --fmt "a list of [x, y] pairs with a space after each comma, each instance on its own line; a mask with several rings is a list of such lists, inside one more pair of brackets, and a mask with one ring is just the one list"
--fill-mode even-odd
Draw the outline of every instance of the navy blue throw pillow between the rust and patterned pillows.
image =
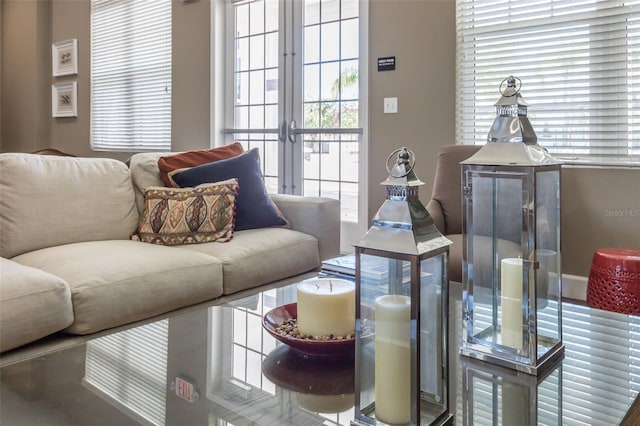
[[237, 231], [285, 226], [287, 221], [273, 204], [262, 180], [260, 157], [254, 148], [237, 157], [202, 164], [186, 170], [175, 170], [169, 178], [182, 188], [208, 182], [238, 178], [240, 191], [236, 204]]

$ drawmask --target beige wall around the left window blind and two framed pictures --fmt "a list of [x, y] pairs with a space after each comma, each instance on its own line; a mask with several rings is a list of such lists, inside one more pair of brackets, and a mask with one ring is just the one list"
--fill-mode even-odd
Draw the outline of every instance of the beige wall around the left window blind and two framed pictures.
[[[89, 0], [3, 0], [3, 151], [56, 148], [124, 160], [130, 153], [90, 147]], [[209, 146], [210, 2], [173, 2], [174, 151]], [[78, 75], [51, 76], [51, 43], [78, 39]], [[78, 82], [78, 117], [51, 118], [54, 82]]]

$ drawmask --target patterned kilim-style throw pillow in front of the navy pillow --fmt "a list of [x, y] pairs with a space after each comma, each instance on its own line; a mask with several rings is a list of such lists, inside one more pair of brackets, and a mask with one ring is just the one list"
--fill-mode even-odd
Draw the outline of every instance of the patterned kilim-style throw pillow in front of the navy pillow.
[[238, 188], [237, 179], [195, 188], [149, 187], [132, 239], [163, 245], [227, 242], [233, 238]]

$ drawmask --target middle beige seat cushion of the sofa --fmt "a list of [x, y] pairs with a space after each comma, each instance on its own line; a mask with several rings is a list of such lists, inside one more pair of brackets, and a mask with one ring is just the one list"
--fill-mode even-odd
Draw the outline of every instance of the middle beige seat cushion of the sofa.
[[[216, 244], [216, 243], [211, 243]], [[149, 318], [222, 294], [222, 265], [179, 247], [112, 240], [67, 244], [14, 258], [71, 288], [73, 334]]]

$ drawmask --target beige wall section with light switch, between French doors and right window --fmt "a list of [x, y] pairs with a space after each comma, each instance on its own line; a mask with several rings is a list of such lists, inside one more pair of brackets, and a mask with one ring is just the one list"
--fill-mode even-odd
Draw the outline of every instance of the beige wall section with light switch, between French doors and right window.
[[[373, 0], [369, 38], [369, 215], [386, 193], [389, 154], [406, 146], [416, 154], [417, 176], [427, 204], [435, 152], [455, 143], [455, 1]], [[395, 56], [395, 71], [377, 71], [379, 57]], [[398, 113], [384, 114], [386, 97]]]

